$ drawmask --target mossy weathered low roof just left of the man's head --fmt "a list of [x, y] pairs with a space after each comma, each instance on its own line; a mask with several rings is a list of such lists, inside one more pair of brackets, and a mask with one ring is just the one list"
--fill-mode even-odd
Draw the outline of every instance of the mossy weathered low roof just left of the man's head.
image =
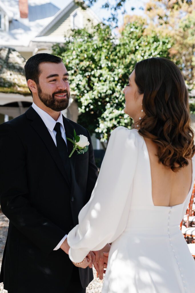
[[18, 51], [0, 48], [0, 92], [30, 94], [24, 72], [25, 63]]

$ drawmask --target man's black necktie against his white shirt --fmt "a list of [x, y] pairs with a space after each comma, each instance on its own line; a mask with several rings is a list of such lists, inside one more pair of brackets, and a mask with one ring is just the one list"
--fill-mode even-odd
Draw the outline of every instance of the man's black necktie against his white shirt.
[[57, 144], [57, 150], [58, 153], [62, 159], [64, 168], [66, 169], [66, 172], [68, 173], [69, 180], [70, 180], [70, 159], [68, 158], [68, 151], [66, 147], [66, 143], [64, 139], [62, 138], [62, 133], [60, 129], [60, 122], [56, 122], [56, 125], [54, 127], [54, 130], [56, 131], [56, 144]]

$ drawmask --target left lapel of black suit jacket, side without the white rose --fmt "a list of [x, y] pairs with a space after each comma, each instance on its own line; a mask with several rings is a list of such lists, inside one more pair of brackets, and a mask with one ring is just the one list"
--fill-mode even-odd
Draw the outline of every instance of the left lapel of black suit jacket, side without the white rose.
[[39, 134], [40, 138], [44, 142], [46, 148], [48, 149], [49, 153], [51, 154], [52, 158], [54, 159], [56, 165], [58, 166], [59, 170], [61, 171], [63, 177], [67, 181], [68, 185], [70, 186], [70, 182], [68, 180], [68, 174], [66, 173], [66, 170], [63, 166], [63, 162], [61, 160], [60, 155], [58, 154], [56, 145], [45, 126], [43, 120], [41, 117], [37, 114], [37, 112], [30, 107], [26, 111], [26, 116], [29, 120], [32, 120], [31, 126], [34, 128], [34, 130]]

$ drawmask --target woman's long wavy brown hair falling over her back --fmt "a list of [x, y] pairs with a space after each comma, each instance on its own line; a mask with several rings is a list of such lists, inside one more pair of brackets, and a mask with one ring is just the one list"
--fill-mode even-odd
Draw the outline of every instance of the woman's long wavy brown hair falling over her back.
[[195, 152], [190, 127], [189, 100], [180, 69], [165, 58], [150, 58], [135, 65], [135, 83], [144, 94], [145, 116], [139, 133], [158, 146], [158, 162], [172, 171], [188, 165]]

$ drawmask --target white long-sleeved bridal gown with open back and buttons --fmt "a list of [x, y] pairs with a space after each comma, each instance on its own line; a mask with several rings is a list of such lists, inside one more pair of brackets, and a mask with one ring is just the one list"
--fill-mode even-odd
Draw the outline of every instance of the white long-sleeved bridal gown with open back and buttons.
[[68, 234], [69, 256], [80, 262], [111, 243], [103, 293], [195, 292], [195, 261], [179, 224], [183, 204], [154, 206], [149, 154], [136, 129], [115, 129], [79, 224]]

